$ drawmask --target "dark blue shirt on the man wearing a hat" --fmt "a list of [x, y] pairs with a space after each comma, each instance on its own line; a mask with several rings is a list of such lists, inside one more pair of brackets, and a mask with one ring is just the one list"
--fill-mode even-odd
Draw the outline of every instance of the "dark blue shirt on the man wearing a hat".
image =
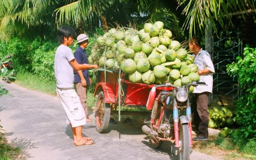
[[[79, 63], [79, 64], [89, 64], [88, 59], [87, 59], [87, 53], [80, 46], [77, 48], [74, 56], [75, 56], [75, 59], [77, 60], [77, 63]], [[83, 75], [85, 77], [87, 85], [89, 85], [90, 84], [90, 80], [89, 80], [89, 72], [88, 72], [88, 70], [85, 69], [85, 70], [82, 70], [82, 72], [83, 72]], [[74, 71], [74, 74], [75, 74], [74, 83], [81, 83], [81, 78], [78, 75], [78, 72]]]

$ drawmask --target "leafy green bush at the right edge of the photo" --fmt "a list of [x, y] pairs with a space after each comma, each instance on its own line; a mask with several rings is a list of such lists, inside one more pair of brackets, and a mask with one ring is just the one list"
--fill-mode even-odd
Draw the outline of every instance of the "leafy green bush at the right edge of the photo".
[[236, 102], [236, 121], [240, 132], [237, 140], [256, 138], [256, 48], [244, 48], [243, 58], [227, 65], [228, 73], [237, 76], [241, 96]]

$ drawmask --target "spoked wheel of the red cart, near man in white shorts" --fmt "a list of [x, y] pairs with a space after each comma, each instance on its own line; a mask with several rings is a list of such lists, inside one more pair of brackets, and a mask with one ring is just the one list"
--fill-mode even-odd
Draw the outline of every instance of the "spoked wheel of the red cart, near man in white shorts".
[[96, 131], [106, 133], [110, 122], [110, 104], [105, 103], [103, 91], [98, 94], [96, 102], [95, 124]]

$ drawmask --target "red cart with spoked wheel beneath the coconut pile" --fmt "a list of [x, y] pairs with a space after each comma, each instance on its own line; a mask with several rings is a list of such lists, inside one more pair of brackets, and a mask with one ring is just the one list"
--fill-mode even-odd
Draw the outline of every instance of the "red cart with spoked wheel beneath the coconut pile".
[[[120, 105], [136, 105], [137, 107], [146, 107], [150, 90], [155, 84], [132, 83], [124, 79], [124, 75], [119, 74], [119, 70], [111, 72], [98, 71], [98, 84], [95, 88], [94, 96], [98, 95], [96, 103], [96, 130], [99, 133], [106, 132], [110, 112], [116, 109], [118, 101], [118, 89], [120, 97]], [[119, 79], [120, 77], [120, 79]], [[118, 83], [118, 79], [120, 82]], [[156, 96], [161, 90], [171, 90], [171, 87], [157, 88]], [[153, 100], [154, 101], [154, 100]]]

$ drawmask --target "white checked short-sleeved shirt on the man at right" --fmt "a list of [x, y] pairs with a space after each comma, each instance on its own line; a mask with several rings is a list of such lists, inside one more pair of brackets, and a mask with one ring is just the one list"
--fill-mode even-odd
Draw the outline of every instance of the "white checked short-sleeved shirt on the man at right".
[[209, 74], [200, 75], [199, 82], [205, 82], [207, 85], [198, 85], [195, 87], [193, 93], [210, 92], [212, 93], [213, 78], [212, 75], [215, 73], [214, 66], [211, 61], [211, 57], [208, 52], [200, 49], [197, 55], [193, 54], [195, 57], [194, 64], [198, 66], [198, 70], [208, 69]]

